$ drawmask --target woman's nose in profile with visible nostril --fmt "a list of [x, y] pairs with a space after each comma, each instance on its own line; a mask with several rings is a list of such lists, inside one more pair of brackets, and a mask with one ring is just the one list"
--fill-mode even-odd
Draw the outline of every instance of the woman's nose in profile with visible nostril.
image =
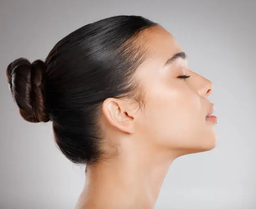
[[198, 94], [202, 97], [208, 97], [212, 93], [212, 82], [199, 74], [195, 76], [197, 76], [195, 84], [197, 85]]

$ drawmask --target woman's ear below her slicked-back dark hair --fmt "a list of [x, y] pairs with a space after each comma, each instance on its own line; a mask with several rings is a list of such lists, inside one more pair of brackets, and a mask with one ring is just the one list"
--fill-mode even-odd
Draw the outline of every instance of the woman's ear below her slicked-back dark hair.
[[134, 117], [129, 115], [128, 106], [121, 99], [108, 98], [102, 104], [102, 113], [108, 122], [125, 133], [134, 133]]

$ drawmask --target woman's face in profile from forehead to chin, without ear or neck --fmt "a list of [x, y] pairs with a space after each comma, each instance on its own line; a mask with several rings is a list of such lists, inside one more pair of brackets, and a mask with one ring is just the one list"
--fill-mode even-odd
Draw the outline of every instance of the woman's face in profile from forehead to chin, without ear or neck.
[[[213, 149], [217, 143], [215, 123], [205, 120], [212, 109], [207, 99], [212, 83], [189, 70], [185, 57], [166, 64], [182, 48], [164, 28], [158, 26], [152, 31], [147, 36], [149, 58], [137, 74], [146, 97], [136, 130], [147, 143], [150, 140], [156, 147], [182, 154]], [[190, 77], [178, 78], [181, 75]]]

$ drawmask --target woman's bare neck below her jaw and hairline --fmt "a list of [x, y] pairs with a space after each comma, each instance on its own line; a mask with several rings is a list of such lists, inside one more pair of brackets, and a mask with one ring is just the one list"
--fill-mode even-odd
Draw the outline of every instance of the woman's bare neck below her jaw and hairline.
[[[121, 146], [121, 154], [87, 166], [86, 184], [80, 198], [88, 209], [153, 209], [169, 166], [177, 155], [169, 150]], [[132, 151], [131, 151], [132, 150]]]

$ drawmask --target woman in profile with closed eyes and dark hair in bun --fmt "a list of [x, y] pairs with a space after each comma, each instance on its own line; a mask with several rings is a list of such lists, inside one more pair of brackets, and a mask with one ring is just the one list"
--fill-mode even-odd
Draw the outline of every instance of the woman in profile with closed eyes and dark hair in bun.
[[45, 62], [16, 59], [7, 76], [20, 115], [51, 120], [61, 152], [87, 165], [77, 209], [152, 209], [171, 163], [217, 142], [212, 83], [140, 16], [85, 25]]

